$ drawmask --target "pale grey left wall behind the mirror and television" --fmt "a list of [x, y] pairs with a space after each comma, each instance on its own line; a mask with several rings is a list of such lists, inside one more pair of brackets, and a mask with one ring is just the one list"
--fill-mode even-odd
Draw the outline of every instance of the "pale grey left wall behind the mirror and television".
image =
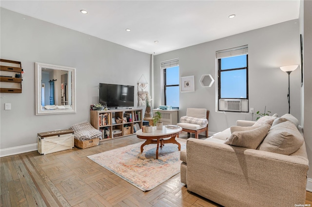
[[[37, 133], [90, 120], [98, 84], [135, 86], [150, 80], [151, 56], [1, 8], [1, 59], [21, 61], [22, 93], [0, 94], [0, 149], [37, 144]], [[23, 19], [24, 18], [24, 19]], [[35, 116], [35, 62], [76, 68], [77, 113]], [[137, 94], [135, 92], [135, 106]], [[4, 110], [11, 103], [12, 110]], [[18, 150], [18, 149], [17, 149]]]

